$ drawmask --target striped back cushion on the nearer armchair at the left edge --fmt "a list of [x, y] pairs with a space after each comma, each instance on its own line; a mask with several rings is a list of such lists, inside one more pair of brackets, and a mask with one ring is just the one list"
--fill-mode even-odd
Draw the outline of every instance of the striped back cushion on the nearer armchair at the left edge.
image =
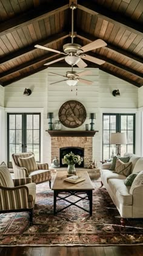
[[3, 187], [15, 187], [10, 171], [4, 162], [0, 165], [0, 185]]

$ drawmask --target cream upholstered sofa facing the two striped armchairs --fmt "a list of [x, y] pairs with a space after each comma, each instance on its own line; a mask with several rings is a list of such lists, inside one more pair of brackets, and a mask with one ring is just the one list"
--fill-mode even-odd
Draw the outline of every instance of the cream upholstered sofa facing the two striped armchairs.
[[[132, 162], [131, 173], [143, 171], [143, 157], [135, 154], [125, 153], [130, 156], [129, 162]], [[143, 184], [130, 191], [124, 183], [127, 178], [124, 175], [110, 171], [111, 163], [105, 163], [101, 169], [101, 183], [105, 186], [116, 208], [118, 209], [124, 224], [124, 218], [143, 218]]]

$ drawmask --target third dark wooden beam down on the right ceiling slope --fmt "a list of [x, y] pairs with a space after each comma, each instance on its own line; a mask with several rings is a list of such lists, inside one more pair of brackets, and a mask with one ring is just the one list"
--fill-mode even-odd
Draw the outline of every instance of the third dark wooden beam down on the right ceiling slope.
[[[135, 76], [139, 77], [139, 78], [143, 78], [143, 73], [140, 73], [138, 71], [136, 71], [135, 69], [129, 68], [128, 66], [122, 65], [121, 63], [115, 62], [115, 60], [109, 59], [107, 57], [105, 57], [104, 55], [100, 55], [100, 54], [96, 54], [95, 52], [90, 52], [90, 54], [92, 57], [96, 57], [100, 60], [104, 60], [105, 62], [109, 63], [110, 65], [114, 66], [115, 68], [119, 68], [122, 69], [123, 71], [127, 71], [130, 74], [134, 74]], [[86, 61], [86, 60], [85, 60]]]

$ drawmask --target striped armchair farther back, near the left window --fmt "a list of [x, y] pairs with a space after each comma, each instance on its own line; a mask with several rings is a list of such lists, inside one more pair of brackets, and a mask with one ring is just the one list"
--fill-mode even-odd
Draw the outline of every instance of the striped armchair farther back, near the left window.
[[33, 152], [12, 154], [15, 179], [30, 177], [36, 184], [49, 181], [51, 188], [52, 174], [47, 163], [36, 163]]

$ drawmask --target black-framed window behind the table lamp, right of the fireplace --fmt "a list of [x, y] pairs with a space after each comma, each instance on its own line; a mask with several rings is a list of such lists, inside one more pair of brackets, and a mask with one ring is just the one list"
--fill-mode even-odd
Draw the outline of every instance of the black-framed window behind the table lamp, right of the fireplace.
[[112, 132], [127, 134], [127, 144], [121, 145], [121, 155], [135, 153], [135, 114], [103, 113], [102, 118], [102, 159], [111, 158], [116, 152], [116, 146], [110, 144]]

